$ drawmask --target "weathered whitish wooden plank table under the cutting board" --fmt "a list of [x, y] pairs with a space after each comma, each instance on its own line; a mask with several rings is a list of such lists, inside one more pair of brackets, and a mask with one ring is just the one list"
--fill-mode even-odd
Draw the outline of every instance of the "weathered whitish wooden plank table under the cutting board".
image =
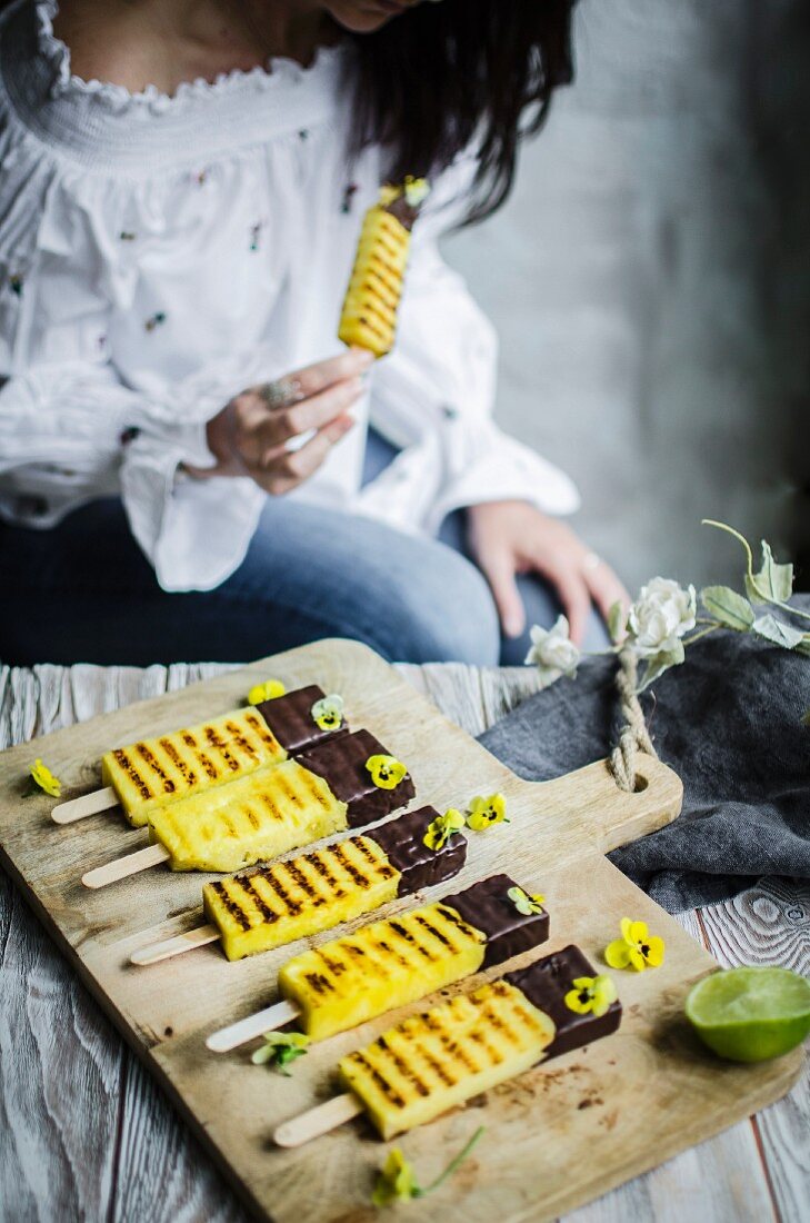
[[[224, 668], [0, 668], [0, 747]], [[403, 667], [470, 734], [528, 670]], [[764, 879], [683, 914], [721, 964], [810, 974], [810, 884]], [[810, 1075], [787, 1098], [568, 1216], [577, 1223], [810, 1221]], [[0, 872], [0, 1221], [242, 1223], [246, 1214]]]

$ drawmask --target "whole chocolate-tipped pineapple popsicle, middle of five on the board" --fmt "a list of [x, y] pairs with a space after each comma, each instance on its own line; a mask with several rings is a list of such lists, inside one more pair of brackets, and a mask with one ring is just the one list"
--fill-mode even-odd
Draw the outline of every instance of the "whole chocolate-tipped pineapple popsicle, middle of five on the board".
[[456, 832], [428, 849], [424, 837], [437, 815], [434, 807], [419, 807], [363, 837], [206, 883], [203, 904], [210, 925], [142, 948], [132, 963], [156, 964], [220, 938], [228, 960], [241, 960], [443, 883], [463, 867], [467, 840]]

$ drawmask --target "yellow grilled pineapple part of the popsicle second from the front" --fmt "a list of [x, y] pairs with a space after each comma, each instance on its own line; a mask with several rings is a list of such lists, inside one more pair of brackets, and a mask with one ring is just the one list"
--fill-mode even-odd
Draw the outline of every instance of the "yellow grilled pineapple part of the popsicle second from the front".
[[314, 1041], [476, 972], [486, 938], [446, 905], [426, 905], [297, 955], [279, 974]]

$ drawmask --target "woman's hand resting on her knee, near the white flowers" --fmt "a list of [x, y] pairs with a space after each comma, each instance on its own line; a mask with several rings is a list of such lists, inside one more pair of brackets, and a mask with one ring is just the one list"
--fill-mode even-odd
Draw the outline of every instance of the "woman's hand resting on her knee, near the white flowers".
[[540, 514], [527, 501], [470, 505], [467, 514], [473, 554], [490, 583], [507, 637], [519, 637], [525, 627], [516, 574], [535, 572], [547, 578], [578, 646], [591, 602], [604, 620], [617, 599], [629, 607], [630, 597], [610, 565], [594, 556], [560, 519]]

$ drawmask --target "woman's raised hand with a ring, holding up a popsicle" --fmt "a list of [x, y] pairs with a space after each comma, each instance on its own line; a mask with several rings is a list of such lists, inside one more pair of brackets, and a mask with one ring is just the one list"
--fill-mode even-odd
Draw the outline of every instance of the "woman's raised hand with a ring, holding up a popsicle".
[[[281, 495], [308, 479], [354, 421], [349, 407], [360, 397], [362, 373], [370, 352], [351, 349], [307, 366], [279, 382], [252, 386], [208, 426], [215, 467], [189, 467], [192, 476], [249, 476], [268, 493]], [[297, 450], [287, 443], [315, 430]]]

